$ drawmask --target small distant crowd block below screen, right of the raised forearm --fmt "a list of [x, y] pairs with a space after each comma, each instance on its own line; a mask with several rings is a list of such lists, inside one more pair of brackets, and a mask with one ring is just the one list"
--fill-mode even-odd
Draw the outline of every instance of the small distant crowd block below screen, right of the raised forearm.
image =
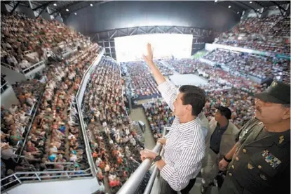
[[196, 62], [191, 60], [190, 58], [182, 58], [182, 59], [165, 59], [163, 60], [168, 65], [172, 66], [176, 72], [180, 74], [189, 74], [195, 72]]

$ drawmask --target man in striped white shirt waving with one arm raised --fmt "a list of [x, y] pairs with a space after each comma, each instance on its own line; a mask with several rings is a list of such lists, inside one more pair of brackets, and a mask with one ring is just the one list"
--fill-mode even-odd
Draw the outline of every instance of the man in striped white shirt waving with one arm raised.
[[161, 177], [166, 182], [165, 193], [180, 191], [187, 194], [194, 186], [205, 156], [205, 137], [198, 115], [205, 105], [205, 91], [196, 86], [181, 86], [179, 93], [175, 86], [166, 81], [153, 62], [151, 45], [147, 45], [148, 56], [144, 56], [158, 84], [164, 100], [176, 116], [170, 132], [158, 140], [165, 145], [163, 159], [149, 150], [141, 151], [142, 160], [154, 159]]

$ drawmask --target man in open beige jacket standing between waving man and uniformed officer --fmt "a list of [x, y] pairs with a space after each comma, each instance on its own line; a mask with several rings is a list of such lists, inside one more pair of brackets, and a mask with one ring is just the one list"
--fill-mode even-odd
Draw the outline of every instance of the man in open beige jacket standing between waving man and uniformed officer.
[[224, 106], [217, 107], [215, 117], [210, 120], [210, 131], [206, 137], [206, 152], [201, 176], [201, 193], [206, 193], [208, 186], [217, 176], [218, 162], [236, 144], [238, 128], [231, 122], [231, 110]]

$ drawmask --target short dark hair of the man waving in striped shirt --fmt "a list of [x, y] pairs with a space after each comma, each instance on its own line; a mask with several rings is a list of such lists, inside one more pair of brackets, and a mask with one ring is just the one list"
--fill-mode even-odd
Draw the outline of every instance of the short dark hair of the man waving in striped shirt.
[[184, 85], [179, 91], [183, 93], [183, 105], [192, 106], [192, 115], [197, 116], [205, 105], [205, 91], [197, 86]]

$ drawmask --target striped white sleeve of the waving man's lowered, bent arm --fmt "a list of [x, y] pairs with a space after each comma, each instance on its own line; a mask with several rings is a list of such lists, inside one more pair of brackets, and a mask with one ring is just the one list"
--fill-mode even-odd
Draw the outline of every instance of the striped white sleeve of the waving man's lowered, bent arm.
[[202, 142], [201, 145], [195, 143], [194, 146], [183, 148], [175, 165], [165, 164], [161, 169], [161, 176], [172, 189], [176, 191], [182, 190], [188, 185], [189, 180], [193, 178], [192, 175], [195, 172], [199, 172], [201, 160], [205, 155], [205, 149], [203, 149], [205, 147], [203, 147]]

